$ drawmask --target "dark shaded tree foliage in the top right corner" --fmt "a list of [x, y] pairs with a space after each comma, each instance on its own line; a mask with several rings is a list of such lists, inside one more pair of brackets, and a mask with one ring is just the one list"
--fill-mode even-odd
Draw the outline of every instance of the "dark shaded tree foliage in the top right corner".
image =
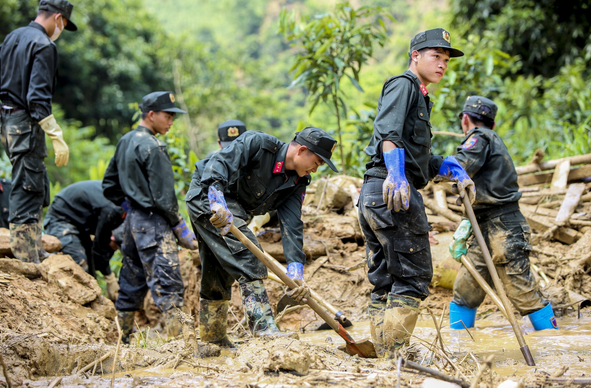
[[491, 31], [502, 51], [521, 56], [519, 74], [552, 77], [576, 58], [591, 60], [587, 0], [451, 0], [450, 8], [462, 34]]

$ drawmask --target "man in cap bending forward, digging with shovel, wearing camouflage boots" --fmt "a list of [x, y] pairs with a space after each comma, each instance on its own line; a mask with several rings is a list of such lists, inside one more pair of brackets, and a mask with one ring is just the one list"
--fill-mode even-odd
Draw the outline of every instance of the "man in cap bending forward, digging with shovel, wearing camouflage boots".
[[303, 276], [301, 204], [311, 172], [325, 162], [338, 172], [330, 161], [335, 147], [336, 140], [316, 127], [297, 132], [290, 143], [248, 131], [210, 159], [195, 164], [185, 201], [202, 265], [199, 332], [203, 341], [233, 347], [226, 325], [234, 281], [240, 284], [244, 315], [254, 337], [280, 334], [262, 282], [267, 279], [267, 268], [228, 233], [233, 224], [260, 248], [246, 227], [248, 216], [277, 210], [287, 274], [300, 285], [288, 289], [287, 295], [306, 304], [310, 291]]

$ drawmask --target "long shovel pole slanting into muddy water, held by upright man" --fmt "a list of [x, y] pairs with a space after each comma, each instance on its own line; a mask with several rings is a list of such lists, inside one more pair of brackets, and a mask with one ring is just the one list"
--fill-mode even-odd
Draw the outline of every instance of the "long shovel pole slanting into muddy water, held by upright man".
[[472, 224], [472, 230], [474, 232], [474, 236], [476, 236], [476, 241], [480, 246], [480, 250], [482, 250], [486, 267], [488, 267], [488, 271], [491, 273], [491, 278], [493, 284], [495, 285], [496, 293], [499, 295], [499, 298], [501, 298], [501, 302], [505, 307], [507, 318], [509, 319], [509, 322], [511, 322], [511, 326], [515, 332], [515, 337], [517, 337], [519, 350], [521, 350], [523, 358], [525, 358], [525, 363], [528, 364], [528, 366], [535, 366], [534, 357], [531, 355], [530, 348], [525, 343], [525, 338], [521, 333], [521, 328], [517, 324], [517, 319], [515, 319], [515, 314], [513, 313], [513, 305], [511, 305], [511, 302], [509, 302], [507, 294], [505, 293], [505, 289], [503, 288], [503, 283], [499, 278], [499, 274], [496, 272], [495, 263], [492, 262], [491, 253], [488, 252], [488, 247], [486, 246], [482, 232], [480, 232], [480, 227], [478, 226], [478, 222], [476, 222], [474, 210], [472, 210], [472, 204], [470, 204], [470, 200], [468, 199], [467, 195], [464, 195], [462, 202], [464, 203], [464, 208], [466, 210], [468, 219], [470, 220], [470, 224]]

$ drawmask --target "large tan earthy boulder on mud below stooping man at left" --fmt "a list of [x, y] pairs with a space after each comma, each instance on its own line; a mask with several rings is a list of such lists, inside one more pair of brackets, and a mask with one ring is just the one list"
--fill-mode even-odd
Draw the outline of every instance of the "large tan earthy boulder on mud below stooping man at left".
[[39, 269], [48, 283], [58, 286], [74, 303], [85, 305], [101, 295], [96, 279], [69, 255], [51, 255], [39, 265]]

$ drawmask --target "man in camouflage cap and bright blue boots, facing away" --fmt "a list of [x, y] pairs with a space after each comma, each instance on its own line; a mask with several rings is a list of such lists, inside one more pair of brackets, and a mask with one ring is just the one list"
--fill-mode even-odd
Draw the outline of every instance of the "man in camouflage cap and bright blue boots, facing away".
[[[517, 172], [501, 137], [493, 131], [497, 107], [492, 100], [469, 96], [459, 117], [466, 138], [456, 158], [476, 184], [473, 209], [506, 294], [522, 315], [528, 315], [535, 330], [557, 328], [550, 303], [544, 301], [530, 271], [530, 226], [519, 211], [521, 198]], [[465, 255], [492, 285], [482, 250], [472, 234], [470, 221], [462, 220], [453, 234], [450, 252], [458, 262]], [[449, 320], [452, 328], [473, 327], [476, 308], [486, 294], [462, 266], [453, 285]]]

